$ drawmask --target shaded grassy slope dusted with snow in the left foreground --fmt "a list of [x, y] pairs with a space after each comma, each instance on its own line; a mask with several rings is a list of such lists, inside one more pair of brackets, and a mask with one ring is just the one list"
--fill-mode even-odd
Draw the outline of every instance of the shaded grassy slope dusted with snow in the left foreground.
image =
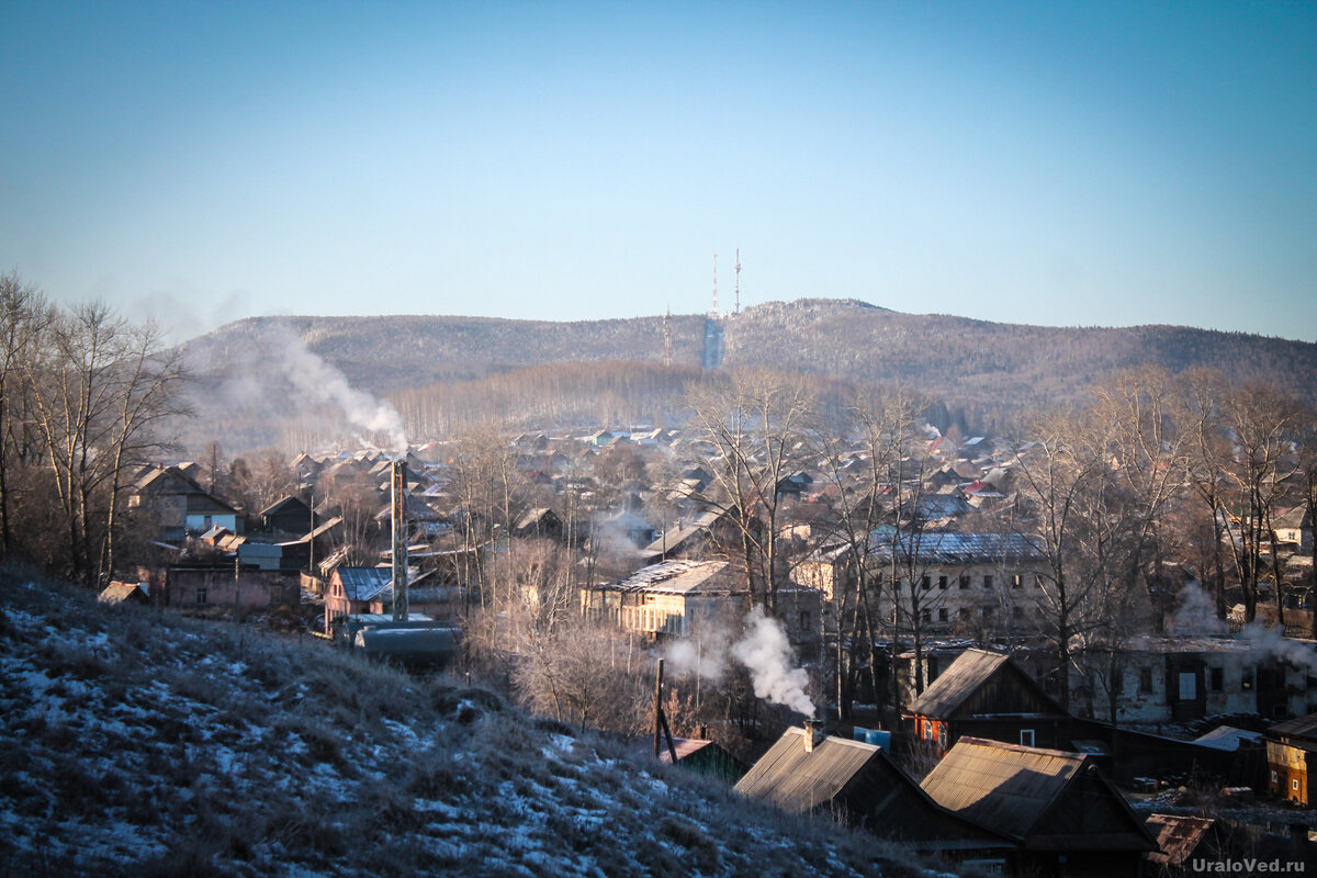
[[0, 570], [0, 874], [915, 874], [497, 695]]

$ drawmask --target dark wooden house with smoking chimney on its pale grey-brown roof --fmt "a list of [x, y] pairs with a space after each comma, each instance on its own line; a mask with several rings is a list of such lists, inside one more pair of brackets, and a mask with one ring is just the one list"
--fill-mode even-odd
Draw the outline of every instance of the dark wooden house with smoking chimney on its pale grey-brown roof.
[[736, 783], [747, 799], [790, 813], [826, 813], [909, 850], [1004, 862], [1014, 842], [951, 813], [880, 746], [823, 736], [817, 724], [782, 733]]

